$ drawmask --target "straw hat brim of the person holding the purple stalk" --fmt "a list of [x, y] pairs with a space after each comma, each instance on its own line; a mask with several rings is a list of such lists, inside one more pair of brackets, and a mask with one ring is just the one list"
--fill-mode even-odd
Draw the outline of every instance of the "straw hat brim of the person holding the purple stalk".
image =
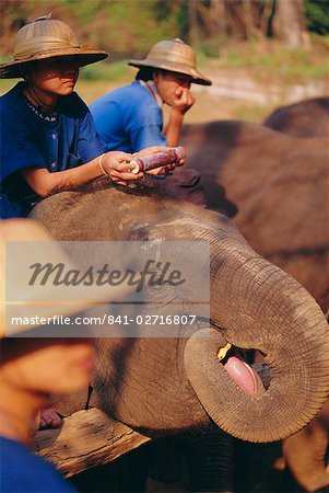
[[20, 60], [11, 60], [0, 65], [1, 79], [17, 79], [22, 77], [24, 70], [32, 61], [46, 60], [50, 58], [74, 57], [79, 61], [79, 67], [84, 67], [96, 61], [104, 60], [108, 57], [108, 53], [95, 49], [72, 48], [66, 50], [57, 50], [56, 53], [43, 53]]

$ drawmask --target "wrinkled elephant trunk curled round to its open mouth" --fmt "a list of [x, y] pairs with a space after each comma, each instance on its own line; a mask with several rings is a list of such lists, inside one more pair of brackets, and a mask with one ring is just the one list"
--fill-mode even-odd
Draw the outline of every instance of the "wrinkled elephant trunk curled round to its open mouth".
[[[329, 332], [312, 296], [248, 245], [213, 246], [211, 319], [221, 330], [186, 345], [187, 376], [209, 416], [225, 432], [272, 442], [305, 426], [329, 391]], [[234, 253], [233, 253], [234, 252]], [[205, 331], [208, 332], [208, 331]], [[271, 367], [270, 387], [256, 395], [234, 381], [216, 354], [231, 343], [259, 349]]]

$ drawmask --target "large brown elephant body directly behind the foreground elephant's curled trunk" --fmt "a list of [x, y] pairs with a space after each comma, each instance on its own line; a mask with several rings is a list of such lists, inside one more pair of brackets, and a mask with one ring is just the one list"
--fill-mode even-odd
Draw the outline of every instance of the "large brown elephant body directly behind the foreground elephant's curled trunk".
[[186, 126], [188, 165], [208, 207], [234, 218], [260, 255], [329, 307], [328, 141], [262, 125], [219, 121]]

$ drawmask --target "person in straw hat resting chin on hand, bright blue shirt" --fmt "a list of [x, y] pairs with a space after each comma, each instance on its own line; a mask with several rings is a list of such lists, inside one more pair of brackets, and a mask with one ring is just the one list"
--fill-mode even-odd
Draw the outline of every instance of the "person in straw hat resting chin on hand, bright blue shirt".
[[[177, 146], [185, 114], [195, 103], [190, 85], [211, 84], [197, 69], [193, 49], [178, 38], [161, 41], [146, 58], [128, 64], [139, 68], [136, 80], [90, 105], [107, 150], [138, 152], [149, 146]], [[165, 129], [163, 104], [171, 107]], [[199, 180], [196, 170], [179, 169], [167, 177], [164, 187], [180, 199], [204, 206]]]

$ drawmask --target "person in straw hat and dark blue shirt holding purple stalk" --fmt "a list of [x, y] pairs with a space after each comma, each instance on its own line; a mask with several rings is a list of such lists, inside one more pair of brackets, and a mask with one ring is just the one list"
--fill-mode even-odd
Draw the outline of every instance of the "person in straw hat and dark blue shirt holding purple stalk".
[[130, 173], [130, 153], [106, 152], [73, 91], [79, 68], [106, 57], [50, 15], [17, 32], [13, 59], [0, 65], [1, 78], [24, 79], [1, 98], [1, 218], [25, 217], [40, 197], [103, 174], [119, 184], [142, 177]]

